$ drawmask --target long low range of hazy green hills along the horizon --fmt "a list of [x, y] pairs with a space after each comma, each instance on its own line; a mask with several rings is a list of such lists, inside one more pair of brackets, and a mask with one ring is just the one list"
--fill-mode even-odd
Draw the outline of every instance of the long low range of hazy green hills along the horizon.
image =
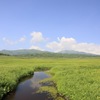
[[36, 49], [22, 49], [22, 50], [1, 50], [1, 55], [21, 56], [21, 57], [56, 57], [56, 58], [79, 58], [79, 57], [96, 57], [98, 55], [79, 52], [74, 50], [64, 50], [57, 53], [40, 51]]

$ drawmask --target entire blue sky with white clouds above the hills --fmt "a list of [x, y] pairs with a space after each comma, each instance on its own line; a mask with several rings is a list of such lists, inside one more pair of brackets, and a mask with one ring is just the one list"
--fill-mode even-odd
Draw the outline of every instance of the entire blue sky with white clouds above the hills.
[[0, 50], [100, 54], [100, 0], [0, 0]]

